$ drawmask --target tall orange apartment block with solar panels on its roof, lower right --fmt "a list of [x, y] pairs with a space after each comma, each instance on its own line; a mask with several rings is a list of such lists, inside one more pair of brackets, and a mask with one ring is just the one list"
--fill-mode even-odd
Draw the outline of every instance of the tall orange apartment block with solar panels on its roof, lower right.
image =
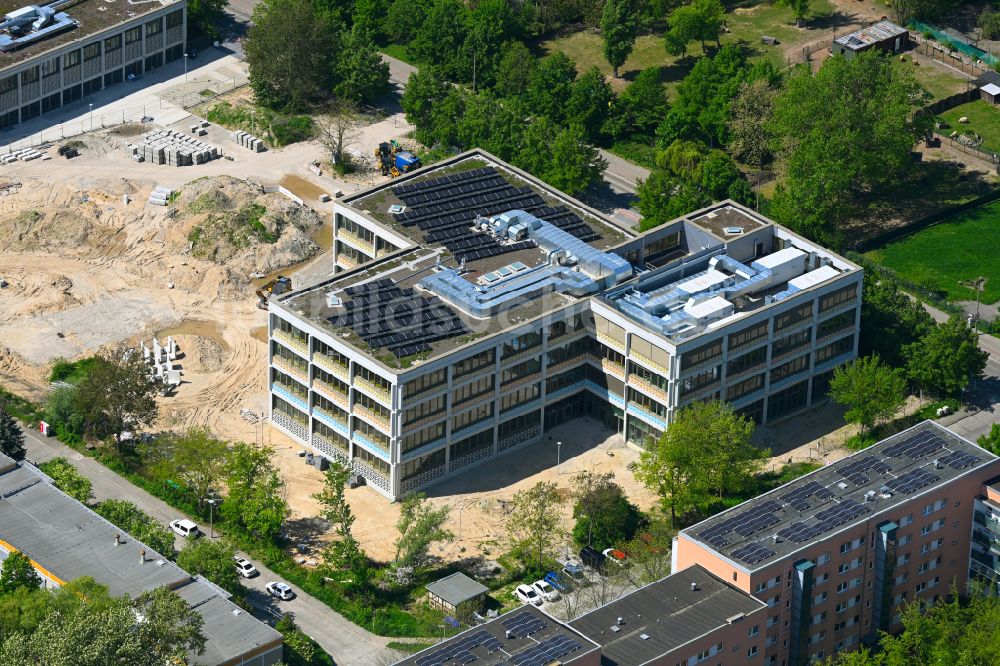
[[904, 602], [964, 591], [998, 472], [996, 456], [925, 421], [682, 530], [673, 570], [697, 564], [767, 604], [759, 663], [819, 662], [900, 630]]

